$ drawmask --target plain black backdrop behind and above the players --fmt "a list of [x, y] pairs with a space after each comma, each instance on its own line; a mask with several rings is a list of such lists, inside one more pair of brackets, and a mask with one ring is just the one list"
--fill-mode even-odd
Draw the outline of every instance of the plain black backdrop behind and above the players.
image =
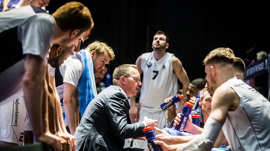
[[[51, 0], [53, 13], [68, 1]], [[269, 53], [267, 1], [80, 1], [95, 22], [95, 33], [82, 44], [98, 40], [112, 47], [111, 75], [121, 64], [135, 64], [151, 52], [153, 35], [164, 31], [168, 52], [178, 57], [191, 80], [204, 78], [202, 60], [211, 50], [229, 47], [245, 60], [258, 51]], [[250, 53], [247, 51], [252, 50]]]

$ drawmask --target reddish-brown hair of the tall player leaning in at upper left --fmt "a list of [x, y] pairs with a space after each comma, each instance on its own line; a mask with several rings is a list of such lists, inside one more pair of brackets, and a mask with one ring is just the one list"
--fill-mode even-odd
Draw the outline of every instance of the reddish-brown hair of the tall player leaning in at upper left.
[[94, 26], [89, 9], [80, 2], [65, 3], [52, 16], [63, 31], [79, 29], [80, 34]]

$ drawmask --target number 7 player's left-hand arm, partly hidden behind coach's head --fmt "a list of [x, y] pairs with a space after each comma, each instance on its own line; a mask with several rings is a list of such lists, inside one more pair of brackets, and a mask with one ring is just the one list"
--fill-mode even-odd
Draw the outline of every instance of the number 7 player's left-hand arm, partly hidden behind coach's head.
[[[136, 66], [138, 67], [138, 71], [141, 75], [141, 73], [143, 72], [141, 70], [141, 56], [138, 57], [138, 59], [136, 60]], [[130, 96], [130, 110], [129, 110], [129, 116], [130, 119], [133, 123], [138, 122], [139, 120], [139, 110], [138, 107], [136, 106], [136, 96]], [[137, 121], [135, 121], [135, 118]]]

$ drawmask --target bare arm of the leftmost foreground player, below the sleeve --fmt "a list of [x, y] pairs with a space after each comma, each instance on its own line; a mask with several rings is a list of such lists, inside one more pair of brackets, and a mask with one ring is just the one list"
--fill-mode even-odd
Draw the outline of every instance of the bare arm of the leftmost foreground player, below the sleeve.
[[[32, 68], [35, 67], [35, 70]], [[42, 94], [45, 79], [45, 66], [39, 56], [26, 55], [23, 93], [33, 133], [38, 139], [43, 134]]]

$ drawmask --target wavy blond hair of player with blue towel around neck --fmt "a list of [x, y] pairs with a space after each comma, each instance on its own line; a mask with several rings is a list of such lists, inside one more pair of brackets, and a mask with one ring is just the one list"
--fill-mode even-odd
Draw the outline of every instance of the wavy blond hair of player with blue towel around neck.
[[101, 53], [106, 51], [108, 55], [110, 56], [110, 60], [113, 60], [115, 56], [113, 49], [109, 47], [107, 44], [105, 44], [104, 42], [95, 41], [92, 44], [88, 45], [85, 49], [90, 52], [95, 50], [97, 52], [97, 55], [100, 55]]

